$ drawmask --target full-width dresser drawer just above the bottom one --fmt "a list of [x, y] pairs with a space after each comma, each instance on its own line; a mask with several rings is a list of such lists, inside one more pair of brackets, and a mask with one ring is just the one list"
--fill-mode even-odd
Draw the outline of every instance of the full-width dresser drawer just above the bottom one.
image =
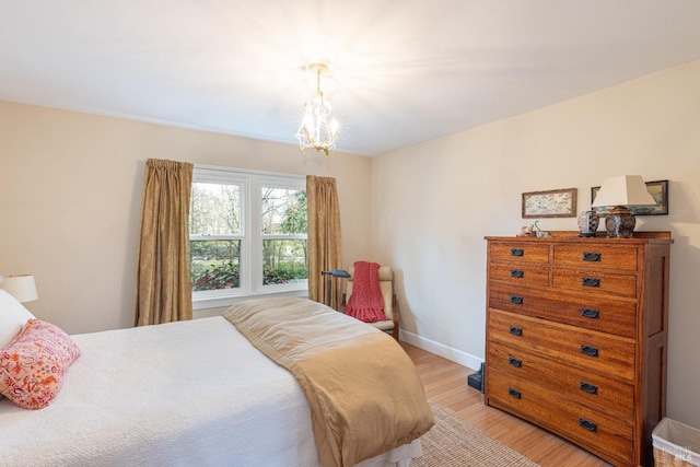
[[578, 404], [618, 420], [628, 423], [634, 421], [634, 393], [630, 384], [503, 345], [490, 345], [487, 359], [490, 370], [565, 395]]

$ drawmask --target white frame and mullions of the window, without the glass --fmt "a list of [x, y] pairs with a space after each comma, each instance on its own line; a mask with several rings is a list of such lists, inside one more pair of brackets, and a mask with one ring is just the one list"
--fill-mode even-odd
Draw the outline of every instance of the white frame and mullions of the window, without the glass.
[[262, 222], [262, 200], [260, 197], [262, 187], [272, 186], [276, 188], [306, 190], [305, 176], [195, 165], [192, 183], [231, 184], [241, 187], [241, 234], [190, 235], [190, 241], [241, 241], [240, 287], [236, 289], [192, 291], [194, 310], [231, 306], [242, 300], [264, 295], [308, 295], [307, 280], [290, 284], [262, 284], [262, 240], [306, 240], [307, 235], [264, 235], [260, 227]]

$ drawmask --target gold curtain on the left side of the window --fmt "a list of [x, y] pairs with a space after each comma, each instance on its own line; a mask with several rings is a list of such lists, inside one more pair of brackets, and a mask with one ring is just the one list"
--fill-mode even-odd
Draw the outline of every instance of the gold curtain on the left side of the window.
[[192, 167], [156, 159], [145, 163], [136, 326], [192, 318], [188, 219]]

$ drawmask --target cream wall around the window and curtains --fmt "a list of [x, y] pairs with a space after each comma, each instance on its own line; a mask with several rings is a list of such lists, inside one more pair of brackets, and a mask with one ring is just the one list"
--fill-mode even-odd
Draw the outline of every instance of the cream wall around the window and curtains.
[[366, 157], [0, 102], [0, 275], [35, 275], [37, 317], [70, 334], [133, 325], [149, 157], [336, 177], [343, 258], [369, 256]]

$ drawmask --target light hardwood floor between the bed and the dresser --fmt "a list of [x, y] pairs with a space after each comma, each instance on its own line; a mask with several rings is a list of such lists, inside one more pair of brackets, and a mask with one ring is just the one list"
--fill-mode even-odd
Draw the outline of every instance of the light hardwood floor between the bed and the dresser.
[[517, 417], [483, 405], [483, 395], [467, 384], [475, 371], [404, 341], [425, 395], [457, 416], [542, 467], [607, 467], [610, 464]]

